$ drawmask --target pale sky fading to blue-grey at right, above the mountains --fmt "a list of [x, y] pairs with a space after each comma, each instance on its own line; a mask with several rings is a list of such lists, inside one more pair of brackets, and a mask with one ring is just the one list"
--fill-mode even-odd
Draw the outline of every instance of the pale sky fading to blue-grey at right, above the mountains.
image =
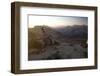
[[47, 15], [29, 15], [28, 26], [33, 28], [36, 25], [47, 25], [49, 27], [62, 27], [72, 25], [87, 25], [87, 17], [72, 16], [47, 16]]

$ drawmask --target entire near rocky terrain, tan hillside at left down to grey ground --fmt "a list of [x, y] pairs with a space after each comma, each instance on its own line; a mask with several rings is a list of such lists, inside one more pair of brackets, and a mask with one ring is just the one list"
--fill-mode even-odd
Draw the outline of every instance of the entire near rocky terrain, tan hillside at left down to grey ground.
[[[87, 47], [82, 47], [80, 42], [71, 42], [70, 39], [62, 32], [57, 31], [57, 29], [48, 26], [36, 26], [28, 30], [29, 60], [76, 59], [88, 57]], [[68, 40], [70, 42], [67, 42]]]

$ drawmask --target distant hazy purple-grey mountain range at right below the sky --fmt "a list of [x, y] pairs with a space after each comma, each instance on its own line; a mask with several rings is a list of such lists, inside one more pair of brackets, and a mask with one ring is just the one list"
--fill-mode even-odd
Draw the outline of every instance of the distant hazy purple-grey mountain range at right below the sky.
[[88, 26], [87, 25], [73, 25], [61, 28], [56, 28], [57, 31], [62, 33], [66, 38], [87, 39]]

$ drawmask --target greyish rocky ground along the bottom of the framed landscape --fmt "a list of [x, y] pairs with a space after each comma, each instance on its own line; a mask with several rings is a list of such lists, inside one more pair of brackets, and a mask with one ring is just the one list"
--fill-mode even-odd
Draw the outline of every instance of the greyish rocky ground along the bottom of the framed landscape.
[[70, 45], [67, 43], [62, 43], [58, 46], [48, 46], [42, 50], [43, 52], [38, 54], [31, 53], [29, 56], [29, 60], [87, 58], [87, 48], [83, 48], [78, 44]]

